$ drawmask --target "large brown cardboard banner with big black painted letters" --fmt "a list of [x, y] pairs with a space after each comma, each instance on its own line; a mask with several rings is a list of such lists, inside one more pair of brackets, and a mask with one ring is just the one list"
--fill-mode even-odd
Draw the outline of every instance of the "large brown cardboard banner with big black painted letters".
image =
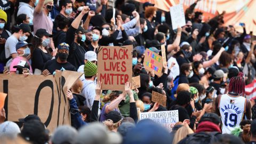
[[0, 91], [7, 93], [4, 106], [7, 120], [18, 122], [19, 118], [35, 114], [50, 132], [58, 125], [70, 125], [66, 92], [81, 76], [82, 73], [68, 70], [60, 71], [54, 77], [0, 75]]

